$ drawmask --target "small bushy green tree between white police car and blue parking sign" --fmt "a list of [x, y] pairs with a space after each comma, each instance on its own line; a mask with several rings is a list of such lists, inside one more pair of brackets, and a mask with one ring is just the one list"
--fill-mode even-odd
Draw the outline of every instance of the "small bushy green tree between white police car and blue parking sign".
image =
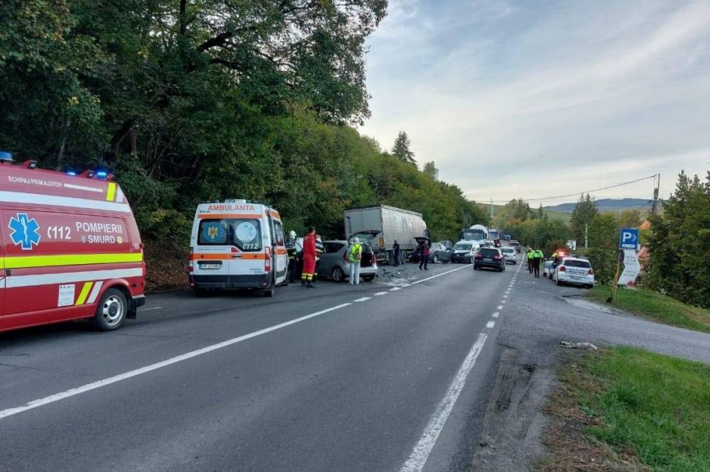
[[594, 268], [595, 280], [611, 284], [616, 274], [618, 258], [618, 221], [610, 213], [597, 214], [589, 224], [587, 256]]

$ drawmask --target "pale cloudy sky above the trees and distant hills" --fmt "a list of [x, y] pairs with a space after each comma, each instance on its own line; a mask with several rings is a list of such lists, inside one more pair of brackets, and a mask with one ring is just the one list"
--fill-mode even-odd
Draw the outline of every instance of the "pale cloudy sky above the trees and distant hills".
[[390, 0], [368, 44], [361, 132], [480, 202], [710, 169], [710, 0]]

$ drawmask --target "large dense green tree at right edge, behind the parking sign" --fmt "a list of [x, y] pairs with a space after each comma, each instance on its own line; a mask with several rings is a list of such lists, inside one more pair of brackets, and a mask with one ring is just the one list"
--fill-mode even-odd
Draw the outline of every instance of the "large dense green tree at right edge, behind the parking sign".
[[662, 215], [650, 216], [649, 282], [683, 302], [710, 307], [710, 172], [684, 172]]

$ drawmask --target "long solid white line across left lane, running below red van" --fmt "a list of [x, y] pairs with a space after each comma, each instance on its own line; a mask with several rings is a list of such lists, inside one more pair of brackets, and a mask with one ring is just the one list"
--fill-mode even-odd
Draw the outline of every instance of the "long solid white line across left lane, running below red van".
[[193, 357], [202, 356], [202, 354], [207, 354], [212, 351], [217, 351], [217, 349], [226, 348], [227, 346], [231, 346], [232, 344], [241, 343], [241, 341], [246, 341], [247, 339], [256, 338], [257, 336], [261, 336], [262, 334], [271, 333], [271, 331], [276, 331], [277, 329], [282, 329], [282, 328], [285, 328], [286, 326], [290, 326], [292, 324], [305, 322], [305, 320], [307, 320], [307, 319], [315, 318], [315, 317], [318, 317], [322, 314], [326, 314], [329, 312], [334, 312], [337, 309], [348, 307], [349, 305], [350, 305], [350, 303], [343, 303], [343, 304], [339, 304], [335, 307], [322, 309], [320, 312], [307, 314], [303, 317], [295, 318], [295, 319], [292, 319], [288, 322], [283, 322], [280, 324], [275, 324], [273, 326], [269, 326], [268, 328], [259, 329], [258, 331], [253, 331], [249, 334], [244, 334], [243, 336], [238, 336], [236, 338], [228, 339], [226, 341], [222, 341], [221, 343], [212, 344], [212, 346], [207, 346], [204, 348], [196, 349], [195, 351], [190, 351], [190, 352], [187, 352], [184, 354], [180, 354], [180, 356], [175, 356], [175, 357], [171, 357], [169, 359], [165, 359], [165, 361], [160, 361], [160, 362], [151, 364], [149, 366], [134, 369], [133, 371], [124, 372], [119, 375], [114, 375], [113, 377], [104, 378], [103, 380], [97, 380], [96, 382], [87, 383], [86, 385], [82, 385], [81, 387], [71, 388], [70, 390], [65, 390], [64, 392], [55, 393], [54, 395], [49, 395], [48, 397], [44, 397], [44, 398], [39, 398], [38, 400], [32, 400], [31, 402], [28, 402], [25, 405], [22, 405], [21, 407], [14, 407], [14, 408], [8, 408], [6, 410], [0, 410], [0, 419], [6, 418], [6, 417], [11, 417], [13, 415], [17, 415], [18, 413], [26, 412], [27, 410], [33, 410], [34, 408], [41, 407], [43, 405], [48, 405], [49, 403], [58, 402], [60, 400], [64, 400], [65, 398], [75, 397], [76, 395], [80, 395], [84, 392], [89, 392], [90, 390], [96, 390], [97, 388], [106, 387], [107, 385], [111, 385], [112, 383], [120, 382], [121, 380], [126, 380], [126, 379], [136, 377], [138, 375], [142, 375], [144, 373], [148, 373], [151, 371], [157, 371], [159, 368], [172, 366], [173, 364], [176, 364], [178, 362], [187, 361], [188, 359], [191, 359]]

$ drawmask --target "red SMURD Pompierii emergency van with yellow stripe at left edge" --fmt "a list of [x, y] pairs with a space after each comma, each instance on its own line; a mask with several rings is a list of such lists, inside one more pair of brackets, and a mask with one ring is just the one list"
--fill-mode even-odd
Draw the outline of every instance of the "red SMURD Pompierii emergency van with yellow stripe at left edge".
[[0, 152], [0, 226], [0, 331], [82, 318], [110, 331], [145, 303], [141, 236], [105, 172]]

